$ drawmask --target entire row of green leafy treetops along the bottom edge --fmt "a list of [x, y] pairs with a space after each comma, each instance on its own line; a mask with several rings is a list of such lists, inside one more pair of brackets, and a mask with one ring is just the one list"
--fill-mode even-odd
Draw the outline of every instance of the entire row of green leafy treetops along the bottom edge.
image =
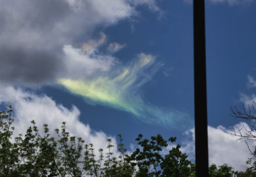
[[[65, 122], [56, 129], [56, 138], [49, 134], [49, 127], [44, 125], [44, 131], [39, 132], [35, 121], [31, 121], [26, 134], [19, 134], [13, 139], [12, 107], [0, 112], [0, 177], [27, 176], [92, 176], [92, 177], [157, 177], [157, 176], [195, 176], [195, 164], [188, 160], [186, 153], [180, 151], [180, 145], [172, 145], [176, 138], [165, 140], [159, 134], [151, 139], [143, 139], [139, 134], [138, 148], [131, 155], [124, 148], [121, 134], [118, 134], [119, 156], [113, 154], [112, 140], [104, 153], [99, 149], [95, 155], [92, 144], [87, 144], [83, 138], [70, 136]], [[168, 152], [163, 152], [167, 146], [172, 146]], [[256, 154], [256, 153], [255, 153]], [[251, 164], [244, 172], [234, 172], [232, 167], [224, 164], [209, 167], [210, 177], [244, 177], [256, 176], [256, 164]]]

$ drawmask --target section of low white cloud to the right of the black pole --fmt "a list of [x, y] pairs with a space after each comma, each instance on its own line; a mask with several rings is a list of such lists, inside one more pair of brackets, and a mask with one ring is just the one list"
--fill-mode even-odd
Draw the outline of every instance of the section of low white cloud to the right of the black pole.
[[[234, 129], [241, 127], [250, 129], [248, 124], [241, 122], [234, 125], [232, 128], [225, 128], [222, 126], [208, 127], [209, 131], [209, 162], [220, 166], [228, 164], [236, 170], [246, 169], [246, 160], [252, 157], [244, 141], [236, 141], [236, 136], [230, 136], [227, 133], [234, 133]], [[243, 130], [243, 134], [245, 131]], [[255, 143], [248, 142], [252, 147]]]

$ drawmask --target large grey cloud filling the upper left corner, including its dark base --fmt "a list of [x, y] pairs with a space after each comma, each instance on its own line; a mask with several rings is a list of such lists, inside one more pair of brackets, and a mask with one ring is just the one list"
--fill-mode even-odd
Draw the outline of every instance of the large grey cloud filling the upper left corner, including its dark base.
[[141, 4], [148, 4], [152, 10], [150, 1], [1, 0], [0, 3], [0, 81], [25, 85], [52, 82], [67, 73], [67, 46], [81, 37], [89, 41], [95, 27], [134, 17], [136, 6]]

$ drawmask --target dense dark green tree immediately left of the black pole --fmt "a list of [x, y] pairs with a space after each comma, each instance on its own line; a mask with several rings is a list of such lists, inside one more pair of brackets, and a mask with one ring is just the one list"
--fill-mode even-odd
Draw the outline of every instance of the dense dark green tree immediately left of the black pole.
[[[164, 140], [160, 134], [152, 136], [151, 141], [142, 139], [142, 134], [136, 141], [141, 146], [129, 157], [129, 161], [134, 161], [133, 165], [138, 166], [136, 176], [193, 176], [193, 164], [187, 159], [186, 153], [180, 152], [180, 145], [173, 147], [168, 154], [162, 155], [161, 151], [168, 146], [168, 141]], [[176, 138], [169, 139], [172, 143]]]

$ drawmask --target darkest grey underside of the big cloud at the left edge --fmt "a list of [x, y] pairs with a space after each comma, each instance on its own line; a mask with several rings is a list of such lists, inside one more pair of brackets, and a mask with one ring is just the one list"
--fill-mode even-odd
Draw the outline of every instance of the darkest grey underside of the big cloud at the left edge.
[[[61, 62], [53, 53], [2, 47], [0, 80], [8, 83], [37, 85], [54, 80]], [[63, 66], [62, 66], [63, 67]]]

